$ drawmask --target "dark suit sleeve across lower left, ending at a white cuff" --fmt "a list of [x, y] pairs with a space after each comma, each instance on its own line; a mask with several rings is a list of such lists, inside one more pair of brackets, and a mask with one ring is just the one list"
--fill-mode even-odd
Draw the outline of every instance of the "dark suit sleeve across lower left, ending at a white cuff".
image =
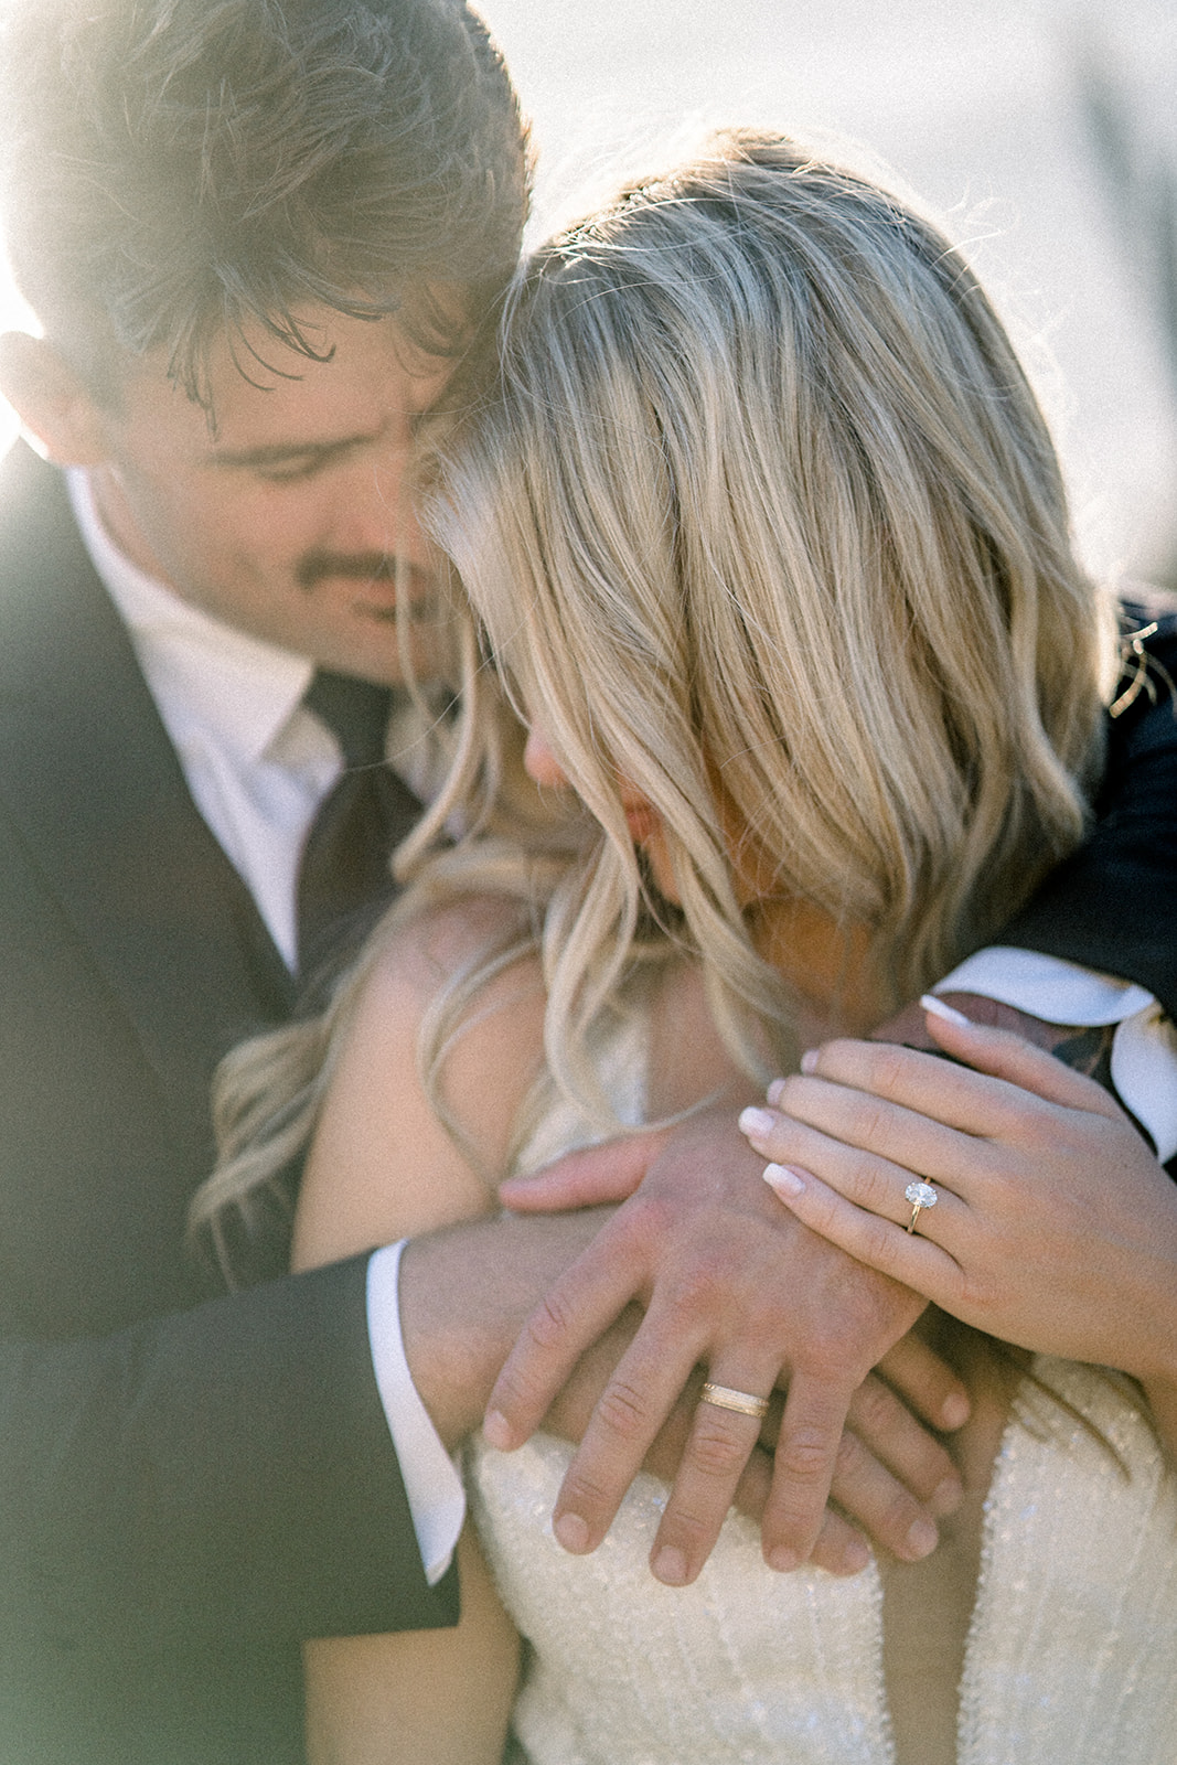
[[113, 1656], [455, 1620], [367, 1354], [365, 1258], [0, 1345], [0, 1633]]

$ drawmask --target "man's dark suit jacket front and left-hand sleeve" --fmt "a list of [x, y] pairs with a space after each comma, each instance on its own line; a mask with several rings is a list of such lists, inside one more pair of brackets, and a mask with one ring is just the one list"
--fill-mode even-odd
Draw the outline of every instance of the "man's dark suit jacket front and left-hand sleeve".
[[[300, 1756], [296, 1643], [448, 1622], [364, 1258], [208, 1301], [208, 1080], [289, 1011], [60, 475], [0, 475], [0, 1760]], [[201, 1301], [208, 1301], [203, 1303]]]

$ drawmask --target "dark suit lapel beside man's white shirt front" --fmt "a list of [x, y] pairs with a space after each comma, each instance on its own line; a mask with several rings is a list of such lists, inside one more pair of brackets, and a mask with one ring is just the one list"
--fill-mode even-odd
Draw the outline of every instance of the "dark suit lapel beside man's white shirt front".
[[238, 1036], [289, 1011], [252, 898], [199, 817], [60, 475], [0, 491], [0, 800], [184, 1112]]

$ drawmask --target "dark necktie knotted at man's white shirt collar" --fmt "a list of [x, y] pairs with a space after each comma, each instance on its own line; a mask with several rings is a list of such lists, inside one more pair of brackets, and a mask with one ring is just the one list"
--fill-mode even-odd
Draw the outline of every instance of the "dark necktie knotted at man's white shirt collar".
[[422, 805], [385, 764], [388, 687], [319, 669], [302, 702], [344, 752], [298, 867], [298, 974], [312, 980], [358, 950], [395, 895], [388, 860]]

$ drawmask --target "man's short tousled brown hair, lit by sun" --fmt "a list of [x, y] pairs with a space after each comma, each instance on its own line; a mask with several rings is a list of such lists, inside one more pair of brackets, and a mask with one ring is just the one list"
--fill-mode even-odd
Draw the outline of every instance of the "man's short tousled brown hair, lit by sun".
[[51, 341], [92, 385], [162, 349], [201, 401], [217, 335], [247, 374], [245, 327], [316, 358], [307, 305], [455, 348], [528, 205], [515, 94], [464, 0], [9, 0], [0, 154]]

